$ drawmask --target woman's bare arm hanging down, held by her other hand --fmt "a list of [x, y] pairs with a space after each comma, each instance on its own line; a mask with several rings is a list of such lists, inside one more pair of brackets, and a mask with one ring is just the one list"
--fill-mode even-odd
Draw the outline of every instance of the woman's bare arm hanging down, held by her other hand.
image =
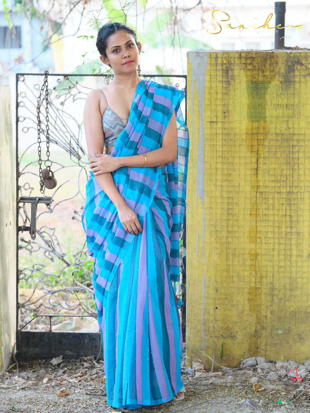
[[[100, 99], [98, 96], [98, 90], [91, 90], [86, 98], [84, 113], [83, 113], [84, 130], [88, 151], [88, 159], [94, 155], [94, 153], [103, 152], [103, 128], [102, 128], [102, 116], [100, 113]], [[124, 229], [133, 234], [138, 234], [138, 231], [142, 231], [141, 225], [138, 221], [137, 215], [129, 208], [122, 198], [122, 195], [117, 190], [114, 180], [110, 172], [102, 173], [100, 176], [96, 176], [96, 180], [100, 187], [104, 190], [107, 196], [111, 199], [119, 215]], [[138, 229], [137, 229], [138, 228]]]

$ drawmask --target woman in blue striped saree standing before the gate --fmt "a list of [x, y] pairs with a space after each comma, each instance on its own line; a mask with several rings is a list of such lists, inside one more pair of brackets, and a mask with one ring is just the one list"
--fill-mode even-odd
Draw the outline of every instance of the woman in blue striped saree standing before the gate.
[[175, 299], [188, 160], [184, 92], [138, 76], [141, 43], [126, 24], [105, 24], [96, 45], [114, 78], [85, 103], [91, 177], [82, 223], [94, 257], [107, 403], [136, 409], [185, 392]]

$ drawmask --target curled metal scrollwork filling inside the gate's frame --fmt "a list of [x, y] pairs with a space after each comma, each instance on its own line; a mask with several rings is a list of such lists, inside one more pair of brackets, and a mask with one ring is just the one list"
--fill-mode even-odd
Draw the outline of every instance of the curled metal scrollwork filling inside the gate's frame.
[[[47, 91], [40, 94], [43, 74], [17, 74], [19, 329], [50, 330], [51, 317], [53, 325], [62, 321], [61, 316], [97, 317], [93, 259], [81, 225], [90, 177], [82, 119], [88, 92], [102, 75], [83, 76], [48, 74]], [[185, 78], [181, 80], [185, 84]], [[43, 193], [38, 125], [41, 161], [46, 161], [48, 134], [57, 180], [54, 189], [44, 187]]]

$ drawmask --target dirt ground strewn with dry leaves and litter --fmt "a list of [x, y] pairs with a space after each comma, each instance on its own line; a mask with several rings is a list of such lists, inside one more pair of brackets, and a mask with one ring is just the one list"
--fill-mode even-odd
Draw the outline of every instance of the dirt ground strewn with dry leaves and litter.
[[[55, 365], [50, 360], [20, 362], [18, 370], [17, 364], [13, 363], [7, 372], [0, 372], [0, 412], [310, 412], [308, 377], [294, 382], [277, 373], [277, 377], [267, 379], [268, 370], [262, 372], [243, 365], [234, 369], [215, 370], [213, 373], [200, 370], [187, 374], [185, 352], [181, 363], [186, 388], [183, 400], [176, 405], [169, 401], [147, 408], [121, 410], [109, 406], [103, 395], [101, 387], [105, 389], [105, 374], [102, 360], [95, 361], [93, 356], [79, 360], [60, 356], [52, 361]], [[257, 387], [254, 390], [255, 385]], [[255, 407], [249, 406], [248, 400]], [[279, 400], [289, 401], [290, 404], [277, 404]]]

